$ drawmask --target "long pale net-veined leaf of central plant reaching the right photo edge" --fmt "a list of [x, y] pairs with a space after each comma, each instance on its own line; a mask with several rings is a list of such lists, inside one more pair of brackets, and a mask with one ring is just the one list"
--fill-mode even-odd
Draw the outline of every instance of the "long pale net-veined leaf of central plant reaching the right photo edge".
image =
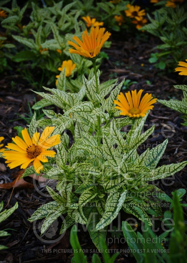
[[162, 165], [155, 170], [152, 170], [151, 174], [145, 175], [143, 177], [144, 181], [153, 181], [165, 178], [167, 176], [171, 176], [175, 174], [176, 172], [180, 171], [181, 169], [186, 166], [187, 161], [178, 163], [178, 164], [168, 164], [168, 165]]

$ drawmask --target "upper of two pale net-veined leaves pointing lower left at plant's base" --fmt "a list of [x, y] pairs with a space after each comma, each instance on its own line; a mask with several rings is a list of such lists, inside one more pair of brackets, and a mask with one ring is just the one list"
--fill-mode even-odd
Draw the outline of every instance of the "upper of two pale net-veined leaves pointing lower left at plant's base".
[[51, 210], [58, 206], [58, 203], [55, 201], [49, 202], [40, 206], [28, 219], [29, 222], [33, 222], [35, 220], [42, 219], [46, 217]]

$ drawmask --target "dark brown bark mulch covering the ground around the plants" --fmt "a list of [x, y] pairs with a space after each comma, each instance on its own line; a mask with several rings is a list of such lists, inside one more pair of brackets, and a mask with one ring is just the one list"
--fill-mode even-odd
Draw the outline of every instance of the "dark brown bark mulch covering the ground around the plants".
[[[136, 40], [136, 38], [128, 38], [127, 36], [121, 36], [120, 34], [112, 34], [112, 46], [110, 49], [104, 50], [109, 59], [105, 60], [101, 66], [103, 71], [100, 82], [108, 79], [108, 77], [119, 78], [119, 81], [123, 78], [130, 79], [131, 81], [137, 81], [137, 84], [131, 85], [127, 90], [132, 89], [144, 89], [145, 92], [154, 94], [159, 99], [182, 98], [180, 90], [175, 89], [173, 85], [183, 84], [183, 76], [179, 77], [177, 73], [166, 74], [164, 70], [158, 70], [148, 62], [150, 53], [153, 47], [157, 44], [156, 40], [151, 37], [145, 40]], [[118, 39], [116, 41], [116, 39]], [[20, 84], [21, 83], [21, 84]], [[13, 129], [15, 126], [26, 126], [26, 122], [23, 119], [14, 120], [18, 118], [18, 114], [22, 116], [25, 113], [29, 113], [28, 103], [32, 106], [34, 103], [35, 94], [30, 91], [27, 83], [18, 75], [9, 75], [0, 80], [0, 136], [4, 136], [4, 144], [6, 145], [11, 141], [11, 138], [16, 136], [17, 131]], [[187, 137], [186, 127], [181, 125], [183, 120], [181, 114], [166, 108], [165, 106], [156, 103], [154, 109], [148, 116], [147, 127], [155, 124], [155, 136], [150, 136], [146, 141], [145, 148], [139, 148], [139, 153], [142, 153], [147, 146], [155, 147], [157, 144], [162, 143], [165, 138], [163, 136], [163, 125], [165, 127], [165, 137], [169, 137], [169, 143], [167, 145], [164, 157], [160, 160], [159, 165], [176, 163], [186, 160], [187, 153]], [[146, 129], [146, 127], [145, 127]], [[167, 130], [167, 131], [166, 131]], [[149, 145], [150, 144], [150, 145]], [[4, 163], [4, 160], [0, 160]], [[13, 177], [19, 171], [19, 168], [10, 170], [6, 168], [6, 171], [0, 171], [0, 184], [13, 181]], [[170, 186], [165, 186], [159, 180], [159, 187], [164, 190], [169, 196], [175, 189], [185, 188], [186, 185], [186, 171], [184, 168], [182, 171], [175, 175], [175, 179], [166, 179], [167, 183], [171, 183]], [[71, 251], [65, 251], [71, 249], [69, 243], [70, 230], [66, 231], [63, 238], [59, 241], [51, 244], [46, 244], [36, 237], [33, 231], [33, 224], [27, 219], [32, 213], [40, 207], [43, 203], [47, 203], [52, 199], [49, 196], [43, 196], [40, 191], [43, 190], [42, 183], [38, 183], [34, 179], [28, 177], [25, 180], [32, 181], [37, 185], [37, 191], [33, 189], [14, 189], [13, 195], [7, 208], [12, 207], [16, 201], [18, 201], [18, 209], [10, 216], [6, 221], [1, 223], [0, 229], [9, 228], [7, 230], [11, 233], [10, 236], [1, 239], [1, 244], [7, 245], [8, 249], [1, 251], [1, 262], [70, 262], [73, 256]], [[50, 182], [51, 184], [55, 182]], [[12, 189], [2, 190], [1, 199], [4, 201], [4, 206], [7, 205]], [[47, 193], [45, 190], [42, 193]], [[183, 202], [186, 201], [186, 197], [183, 198]], [[125, 220], [126, 215], [121, 216], [121, 220]], [[61, 227], [61, 219], [56, 222], [55, 226], [58, 231]], [[117, 222], [116, 222], [117, 224]], [[59, 226], [59, 227], [58, 227]], [[81, 225], [81, 230], [78, 233], [79, 242], [82, 249], [96, 249], [90, 240], [88, 232], [84, 232]], [[51, 231], [54, 231], [52, 229]], [[58, 233], [57, 231], [57, 233]], [[107, 238], [111, 236], [108, 233]], [[58, 234], [52, 235], [52, 240], [58, 238]], [[47, 238], [46, 238], [47, 239]], [[50, 238], [48, 238], [50, 240]], [[109, 244], [109, 249], [127, 249], [127, 245], [112, 243]], [[64, 249], [64, 251], [63, 251]], [[114, 251], [113, 250], [113, 251]], [[87, 259], [91, 262], [92, 253], [87, 253]], [[121, 253], [117, 257], [116, 262], [136, 262], [128, 253]]]

